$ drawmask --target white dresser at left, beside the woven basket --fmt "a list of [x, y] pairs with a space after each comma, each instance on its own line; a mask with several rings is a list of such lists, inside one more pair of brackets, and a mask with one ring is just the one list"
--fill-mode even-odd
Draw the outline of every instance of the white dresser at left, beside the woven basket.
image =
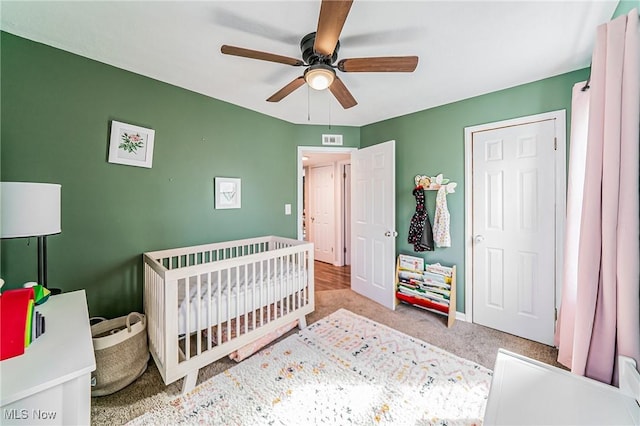
[[51, 296], [38, 310], [45, 333], [0, 361], [0, 424], [88, 425], [96, 363], [85, 292]]

